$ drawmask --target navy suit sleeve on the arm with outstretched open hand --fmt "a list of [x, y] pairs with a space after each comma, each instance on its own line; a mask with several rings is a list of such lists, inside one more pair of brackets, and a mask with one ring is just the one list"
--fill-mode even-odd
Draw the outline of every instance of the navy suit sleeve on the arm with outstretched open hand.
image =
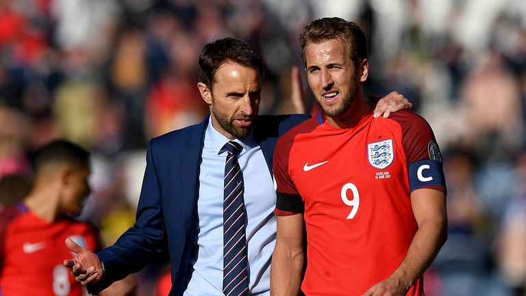
[[101, 284], [88, 288], [88, 292], [92, 294], [97, 294], [130, 273], [140, 271], [153, 256], [162, 251], [165, 228], [160, 182], [153, 154], [154, 148], [150, 142], [136, 223], [121, 235], [114, 245], [97, 253], [103, 262], [104, 279]]

